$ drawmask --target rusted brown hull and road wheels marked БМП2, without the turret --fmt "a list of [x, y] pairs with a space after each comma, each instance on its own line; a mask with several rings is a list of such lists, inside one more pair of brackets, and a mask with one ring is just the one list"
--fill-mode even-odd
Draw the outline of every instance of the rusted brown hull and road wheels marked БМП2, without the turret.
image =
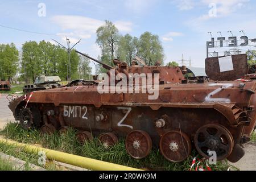
[[[16, 119], [32, 118], [43, 131], [71, 126], [82, 132], [80, 138], [90, 138], [88, 131], [100, 135], [106, 147], [126, 137], [127, 152], [137, 159], [153, 144], [171, 162], [184, 160], [192, 148], [205, 157], [207, 148], [217, 148], [218, 160], [235, 162], [255, 126], [255, 104], [255, 82], [229, 81], [159, 85], [157, 100], [141, 92], [100, 94], [96, 85], [57, 88], [20, 97], [9, 107]], [[20, 118], [26, 105], [29, 119]]]

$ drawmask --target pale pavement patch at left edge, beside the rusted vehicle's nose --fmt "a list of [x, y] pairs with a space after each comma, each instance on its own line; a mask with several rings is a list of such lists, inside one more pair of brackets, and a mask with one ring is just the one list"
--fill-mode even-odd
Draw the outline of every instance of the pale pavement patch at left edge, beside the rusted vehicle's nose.
[[6, 94], [0, 94], [0, 129], [6, 125], [7, 122], [14, 122], [13, 113], [8, 107], [9, 101], [6, 99]]

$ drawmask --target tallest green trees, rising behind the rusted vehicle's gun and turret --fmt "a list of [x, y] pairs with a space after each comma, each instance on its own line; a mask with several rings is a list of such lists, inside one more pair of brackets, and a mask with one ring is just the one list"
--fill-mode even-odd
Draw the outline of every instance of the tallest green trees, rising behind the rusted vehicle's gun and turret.
[[[140, 38], [129, 34], [122, 36], [112, 22], [106, 20], [105, 25], [97, 30], [96, 43], [101, 48], [101, 61], [113, 65], [114, 56], [131, 65], [135, 56], [141, 57], [147, 65], [154, 65], [156, 61], [163, 61], [163, 47], [158, 35], [144, 32]], [[106, 72], [101, 68], [100, 72]]]

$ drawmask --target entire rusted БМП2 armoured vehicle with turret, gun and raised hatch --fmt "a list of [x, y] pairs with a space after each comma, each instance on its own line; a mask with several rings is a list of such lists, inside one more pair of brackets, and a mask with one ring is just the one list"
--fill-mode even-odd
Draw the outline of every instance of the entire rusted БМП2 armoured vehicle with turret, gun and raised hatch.
[[[89, 59], [109, 69], [110, 79], [73, 82], [14, 100], [9, 107], [20, 125], [40, 128], [43, 133], [73, 127], [81, 142], [98, 136], [106, 148], [125, 137], [126, 150], [135, 159], [145, 158], [152, 146], [159, 147], [170, 162], [183, 161], [193, 148], [205, 158], [209, 151], [216, 152], [217, 160], [242, 158], [241, 144], [249, 139], [256, 119], [256, 81], [240, 79], [247, 74], [246, 55], [206, 59], [209, 78], [185, 78], [179, 67], [128, 67], [114, 60], [113, 68]], [[150, 88], [158, 92], [153, 99], [148, 80], [142, 81], [150, 73], [154, 80]], [[119, 79], [113, 80], [115, 76]], [[129, 92], [112, 89], [127, 80], [132, 84], [120, 88]], [[110, 92], [99, 91], [108, 82], [114, 83], [104, 87]]]

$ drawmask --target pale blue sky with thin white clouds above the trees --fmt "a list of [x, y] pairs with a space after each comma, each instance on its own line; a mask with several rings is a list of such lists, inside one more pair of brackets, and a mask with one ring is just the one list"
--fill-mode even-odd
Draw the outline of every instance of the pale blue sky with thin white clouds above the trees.
[[[46, 16], [39, 16], [40, 3], [46, 5]], [[216, 14], [209, 14], [215, 11]], [[100, 54], [96, 45], [97, 27], [111, 20], [121, 34], [140, 36], [144, 31], [159, 35], [164, 47], [165, 63], [191, 56], [192, 66], [204, 67], [207, 32], [214, 38], [221, 31], [240, 37], [240, 30], [250, 39], [256, 38], [256, 2], [249, 0], [57, 0], [1, 1], [0, 25], [57, 36], [38, 35], [0, 27], [1, 42], [15, 43], [20, 49], [29, 40], [56, 39], [64, 35], [72, 42], [82, 39], [76, 48], [93, 57]], [[40, 11], [41, 12], [41, 11]], [[41, 14], [42, 15], [42, 14]]]

